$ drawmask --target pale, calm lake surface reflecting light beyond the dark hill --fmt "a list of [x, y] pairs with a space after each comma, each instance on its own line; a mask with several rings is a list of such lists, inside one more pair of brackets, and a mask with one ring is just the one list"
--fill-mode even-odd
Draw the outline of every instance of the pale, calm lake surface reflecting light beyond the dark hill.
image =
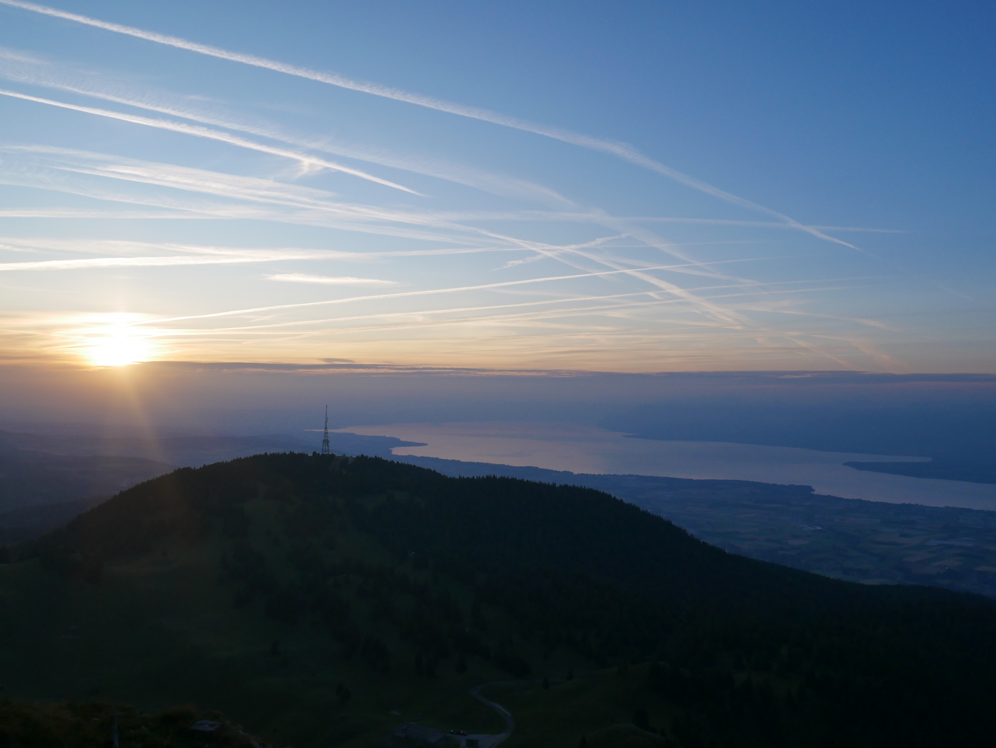
[[674, 478], [757, 480], [813, 486], [848, 499], [996, 510], [996, 485], [909, 478], [855, 470], [848, 461], [903, 462], [896, 457], [715, 441], [627, 438], [617, 431], [574, 424], [392, 423], [339, 429], [421, 441], [395, 447], [396, 455], [570, 470], [575, 473], [659, 475]]

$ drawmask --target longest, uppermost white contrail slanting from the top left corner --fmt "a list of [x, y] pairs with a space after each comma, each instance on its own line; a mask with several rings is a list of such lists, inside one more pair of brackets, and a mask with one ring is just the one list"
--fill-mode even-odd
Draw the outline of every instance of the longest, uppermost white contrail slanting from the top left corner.
[[521, 129], [526, 132], [533, 132], [538, 135], [544, 135], [546, 137], [552, 137], [556, 140], [561, 140], [563, 142], [569, 142], [574, 145], [580, 145], [584, 148], [590, 148], [592, 150], [599, 150], [604, 153], [610, 153], [625, 161], [629, 161], [637, 166], [642, 166], [643, 168], [649, 169], [650, 171], [655, 171], [658, 174], [662, 174], [671, 179], [674, 179], [685, 186], [696, 189], [700, 192], [705, 192], [706, 194], [718, 197], [726, 202], [733, 203], [734, 205], [740, 205], [742, 207], [750, 208], [751, 210], [757, 210], [767, 215], [774, 216], [779, 220], [789, 224], [793, 228], [800, 231], [804, 231], [812, 236], [820, 239], [824, 239], [835, 244], [842, 244], [851, 249], [856, 249], [859, 252], [863, 251], [856, 247], [854, 244], [849, 244], [846, 241], [842, 241], [836, 237], [830, 236], [823, 233], [822, 231], [812, 227], [806, 226], [799, 223], [793, 218], [785, 215], [784, 213], [779, 213], [777, 210], [767, 208], [763, 205], [759, 205], [756, 202], [752, 202], [744, 197], [734, 195], [730, 192], [720, 189], [719, 187], [714, 187], [711, 184], [703, 182], [700, 179], [696, 179], [693, 176], [682, 173], [676, 169], [672, 169], [670, 166], [665, 166], [658, 161], [648, 158], [643, 155], [631, 145], [626, 143], [617, 142], [615, 140], [606, 140], [600, 137], [593, 137], [591, 135], [582, 134], [580, 132], [573, 132], [568, 129], [563, 129], [560, 127], [551, 127], [549, 125], [539, 125], [536, 123], [531, 123], [526, 120], [520, 120], [514, 117], [508, 117], [507, 115], [501, 115], [497, 112], [491, 112], [489, 110], [480, 109], [477, 107], [467, 107], [461, 104], [454, 104], [452, 102], [447, 102], [442, 99], [436, 99], [434, 97], [427, 97], [421, 94], [412, 94], [407, 91], [402, 91], [400, 89], [390, 88], [388, 86], [381, 86], [380, 84], [371, 83], [368, 81], [356, 81], [345, 76], [341, 76], [335, 73], [327, 73], [324, 71], [313, 70], [311, 68], [303, 68], [297, 65], [290, 65], [288, 63], [281, 63], [276, 60], [269, 60], [265, 57], [259, 57], [257, 55], [247, 55], [241, 52], [231, 52], [229, 50], [223, 50], [220, 47], [212, 47], [206, 44], [198, 44], [196, 42], [190, 42], [186, 39], [181, 39], [179, 37], [167, 36], [165, 34], [157, 34], [152, 31], [144, 31], [143, 29], [136, 29], [133, 26], [123, 26], [122, 24], [110, 23], [108, 21], [100, 21], [96, 18], [90, 18], [88, 16], [81, 16], [77, 13], [69, 13], [67, 11], [58, 10], [57, 8], [49, 8], [45, 5], [37, 5], [36, 3], [26, 3], [21, 2], [21, 0], [0, 0], [0, 4], [9, 5], [13, 8], [21, 8], [23, 10], [30, 10], [35, 13], [41, 13], [46, 16], [52, 16], [54, 18], [62, 18], [67, 21], [75, 21], [77, 23], [82, 23], [87, 26], [93, 26], [98, 29], [104, 29], [106, 31], [113, 31], [118, 34], [124, 34], [126, 36], [135, 37], [137, 39], [144, 39], [149, 42], [155, 42], [156, 44], [164, 44], [169, 47], [175, 47], [181, 50], [187, 50], [189, 52], [197, 52], [201, 55], [207, 55], [209, 57], [219, 58], [221, 60], [229, 60], [231, 62], [242, 63], [244, 65], [251, 65], [256, 68], [265, 68], [266, 70], [272, 70], [277, 73], [284, 73], [289, 76], [296, 76], [298, 78], [306, 78], [311, 81], [317, 81], [319, 83], [329, 84], [330, 86], [338, 86], [342, 89], [349, 89], [351, 91], [359, 91], [365, 94], [371, 94], [373, 96], [382, 97], [384, 99], [392, 99], [397, 102], [405, 102], [407, 104], [413, 104], [418, 107], [425, 107], [427, 109], [437, 110], [439, 112], [446, 112], [451, 115], [457, 115], [459, 117], [467, 117], [473, 120], [480, 120], [487, 123], [492, 123], [493, 125], [504, 125], [506, 127], [513, 127], [515, 129]]

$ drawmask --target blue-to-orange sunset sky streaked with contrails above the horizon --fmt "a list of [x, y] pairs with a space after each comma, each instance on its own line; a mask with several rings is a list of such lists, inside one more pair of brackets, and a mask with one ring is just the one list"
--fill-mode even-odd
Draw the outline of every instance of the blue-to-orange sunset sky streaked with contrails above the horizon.
[[994, 21], [0, 0], [0, 359], [996, 372]]

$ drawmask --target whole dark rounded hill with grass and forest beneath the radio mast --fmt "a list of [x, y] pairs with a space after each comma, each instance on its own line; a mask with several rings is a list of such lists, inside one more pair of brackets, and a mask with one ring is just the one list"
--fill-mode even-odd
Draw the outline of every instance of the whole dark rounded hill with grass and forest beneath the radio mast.
[[509, 748], [631, 721], [682, 746], [996, 726], [990, 601], [735, 556], [589, 488], [259, 455], [134, 486], [17, 559], [9, 694], [192, 701], [299, 748], [416, 717], [500, 732], [467, 691], [513, 679], [537, 682], [487, 691], [519, 719]]

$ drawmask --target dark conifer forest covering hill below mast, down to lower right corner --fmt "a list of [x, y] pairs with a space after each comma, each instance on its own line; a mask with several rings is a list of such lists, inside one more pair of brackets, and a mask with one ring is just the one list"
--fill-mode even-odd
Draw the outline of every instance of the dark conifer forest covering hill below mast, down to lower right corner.
[[[260, 502], [276, 507], [265, 530]], [[279, 572], [258, 543], [275, 528]], [[350, 558], [351, 534], [383, 561]], [[324, 627], [383, 673], [412, 657], [420, 674], [480, 657], [519, 677], [536, 652], [649, 662], [679, 745], [972, 745], [996, 729], [990, 601], [730, 555], [592, 489], [260, 455], [128, 489], [22, 558], [99, 581], [177, 540], [220, 544], [235, 605]]]

